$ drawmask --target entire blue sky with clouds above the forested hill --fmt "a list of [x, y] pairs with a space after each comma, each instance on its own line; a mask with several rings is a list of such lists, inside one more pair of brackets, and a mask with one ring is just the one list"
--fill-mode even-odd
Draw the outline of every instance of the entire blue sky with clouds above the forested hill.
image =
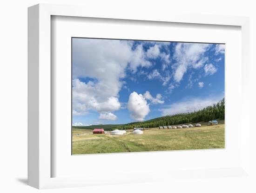
[[72, 39], [73, 125], [190, 112], [224, 97], [225, 45]]

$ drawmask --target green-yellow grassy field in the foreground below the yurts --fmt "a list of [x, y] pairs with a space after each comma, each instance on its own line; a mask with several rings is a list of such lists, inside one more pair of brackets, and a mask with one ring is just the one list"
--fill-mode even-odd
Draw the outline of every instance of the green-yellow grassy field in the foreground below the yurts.
[[72, 130], [72, 154], [143, 152], [224, 148], [224, 124], [188, 129], [149, 129], [142, 135], [92, 134], [91, 129]]

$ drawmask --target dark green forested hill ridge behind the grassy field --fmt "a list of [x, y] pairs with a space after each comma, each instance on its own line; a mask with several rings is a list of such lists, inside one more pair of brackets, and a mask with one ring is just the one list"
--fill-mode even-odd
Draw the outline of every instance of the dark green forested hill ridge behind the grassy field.
[[197, 122], [208, 122], [210, 120], [224, 120], [225, 119], [225, 100], [224, 98], [218, 103], [197, 110], [190, 113], [181, 113], [176, 115], [162, 116], [155, 119], [150, 119], [144, 122], [130, 122], [128, 124], [120, 125], [91, 125], [91, 126], [73, 126], [73, 128], [80, 129], [94, 129], [103, 128], [105, 130], [114, 129], [133, 129], [139, 128], [155, 128], [164, 125], [177, 125], [184, 123], [197, 123]]

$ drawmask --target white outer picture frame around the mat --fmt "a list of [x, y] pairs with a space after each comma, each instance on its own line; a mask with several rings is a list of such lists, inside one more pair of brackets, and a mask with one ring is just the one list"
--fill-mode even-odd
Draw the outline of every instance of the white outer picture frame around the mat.
[[[152, 14], [139, 14], [129, 12], [116, 12], [109, 14], [107, 10], [94, 12], [89, 7], [62, 6], [39, 4], [28, 8], [28, 185], [36, 188], [56, 188], [56, 187], [81, 187], [100, 185], [97, 175], [89, 174], [86, 177], [52, 177], [51, 168], [51, 16], [73, 16], [87, 18], [105, 19], [129, 19], [155, 22], [178, 22], [202, 25], [225, 25], [240, 26], [242, 29], [242, 100], [241, 110], [243, 116], [241, 122], [244, 129], [241, 134], [241, 165], [234, 168], [219, 168], [205, 171], [198, 170], [209, 175], [220, 175], [220, 171], [229, 171], [236, 176], [249, 175], [249, 18], [237, 16], [217, 16], [217, 15], [176, 15], [163, 13], [154, 16]], [[239, 126], [238, 126], [239, 127]], [[241, 125], [240, 125], [241, 127]], [[184, 173], [183, 173], [184, 174]], [[179, 176], [180, 171], [168, 172], [156, 171], [153, 176], [148, 174], [126, 174], [126, 178], [114, 178], [112, 181], [106, 180], [104, 184], [115, 183], [138, 183], [155, 182], [158, 180], [172, 179]], [[154, 177], [154, 176], [162, 176]], [[139, 180], [138, 180], [139, 179]]]

